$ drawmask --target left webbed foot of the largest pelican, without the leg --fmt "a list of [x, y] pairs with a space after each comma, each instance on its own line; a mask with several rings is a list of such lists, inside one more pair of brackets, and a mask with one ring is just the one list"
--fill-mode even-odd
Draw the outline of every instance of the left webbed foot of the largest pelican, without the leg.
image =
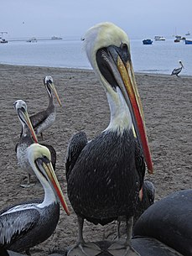
[[96, 256], [99, 253], [101, 253], [101, 248], [96, 243], [77, 243], [70, 248], [67, 256]]

